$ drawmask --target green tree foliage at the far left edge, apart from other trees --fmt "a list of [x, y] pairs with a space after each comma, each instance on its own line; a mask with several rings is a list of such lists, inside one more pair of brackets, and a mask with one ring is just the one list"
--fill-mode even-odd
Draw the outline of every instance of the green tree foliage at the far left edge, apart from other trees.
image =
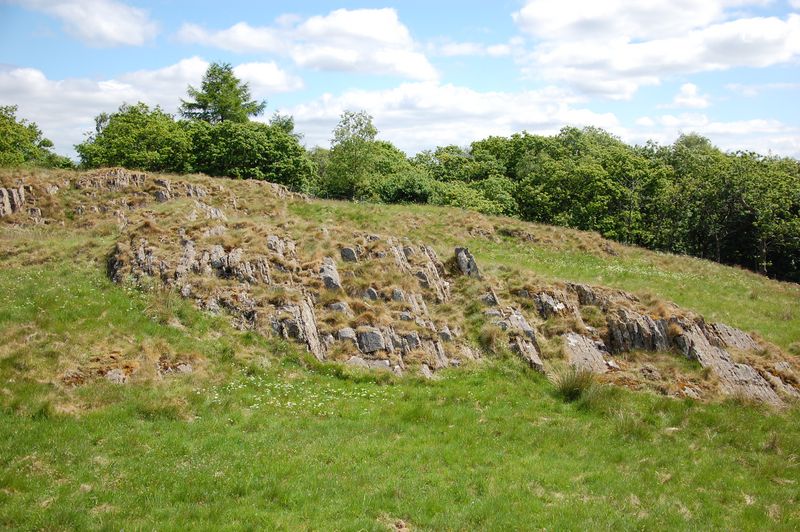
[[17, 119], [16, 105], [0, 106], [0, 166], [72, 167], [72, 162], [53, 153], [52, 147], [36, 124]]

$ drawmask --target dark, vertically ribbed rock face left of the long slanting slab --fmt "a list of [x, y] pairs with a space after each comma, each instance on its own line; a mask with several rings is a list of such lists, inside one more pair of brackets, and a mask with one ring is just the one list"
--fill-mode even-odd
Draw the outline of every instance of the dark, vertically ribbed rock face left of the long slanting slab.
[[666, 351], [669, 349], [667, 321], [654, 320], [624, 308], [611, 312], [607, 317], [608, 341], [612, 353], [644, 349]]

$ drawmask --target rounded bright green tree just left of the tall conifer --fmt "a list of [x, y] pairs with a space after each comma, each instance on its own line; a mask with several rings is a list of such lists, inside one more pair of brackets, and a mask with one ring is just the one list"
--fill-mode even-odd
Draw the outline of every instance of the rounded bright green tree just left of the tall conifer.
[[161, 108], [123, 104], [96, 119], [96, 131], [75, 146], [87, 168], [124, 166], [156, 172], [190, 169], [192, 143], [185, 128]]

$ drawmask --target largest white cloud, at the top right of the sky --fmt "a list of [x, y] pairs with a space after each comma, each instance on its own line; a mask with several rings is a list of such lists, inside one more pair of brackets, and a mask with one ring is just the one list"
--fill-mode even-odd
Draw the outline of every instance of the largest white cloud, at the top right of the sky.
[[[523, 71], [615, 99], [665, 77], [800, 57], [800, 15], [734, 14], [762, 0], [531, 0], [514, 19], [535, 42]], [[735, 18], [738, 16], [739, 18]]]

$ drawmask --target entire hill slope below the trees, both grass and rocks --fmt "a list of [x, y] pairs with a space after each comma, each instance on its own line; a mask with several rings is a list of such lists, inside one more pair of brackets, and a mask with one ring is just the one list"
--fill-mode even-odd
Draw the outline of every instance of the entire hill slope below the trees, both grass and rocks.
[[2, 184], [5, 525], [800, 520], [797, 285], [258, 182]]

